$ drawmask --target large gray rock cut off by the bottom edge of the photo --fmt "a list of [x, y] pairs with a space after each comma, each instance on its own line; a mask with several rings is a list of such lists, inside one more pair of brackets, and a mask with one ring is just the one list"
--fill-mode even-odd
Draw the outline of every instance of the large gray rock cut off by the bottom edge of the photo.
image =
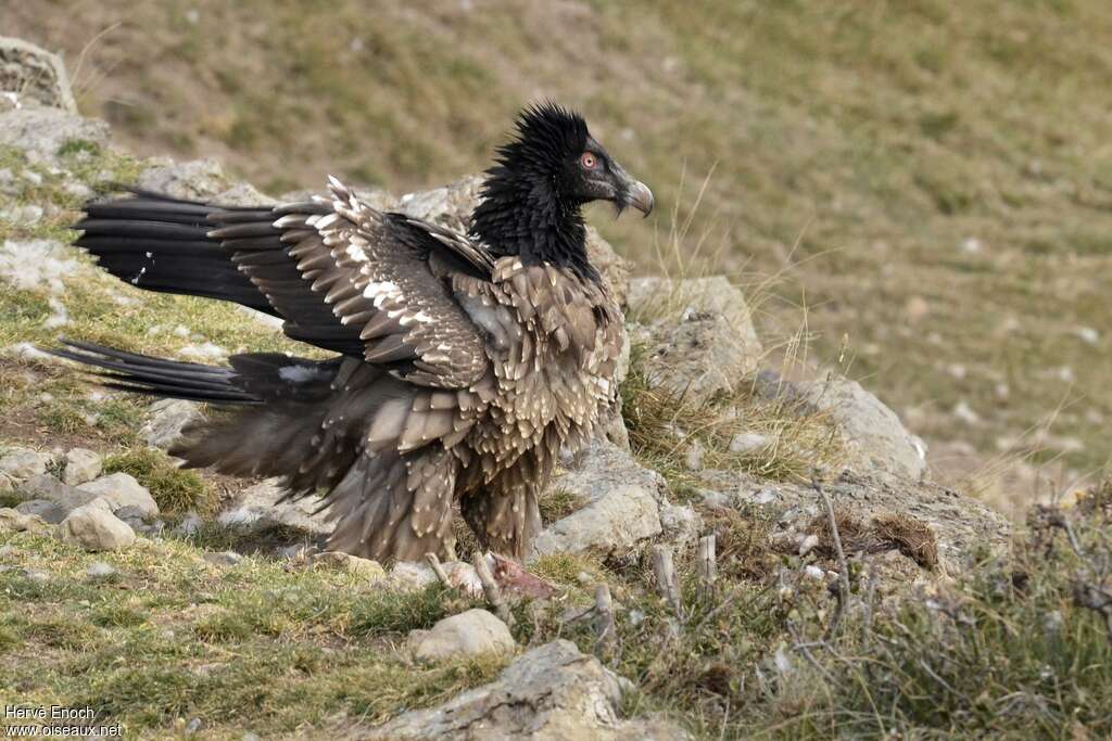
[[358, 739], [678, 740], [663, 719], [623, 720], [623, 680], [597, 659], [558, 640], [520, 655], [499, 678], [436, 708], [415, 710], [356, 732]]

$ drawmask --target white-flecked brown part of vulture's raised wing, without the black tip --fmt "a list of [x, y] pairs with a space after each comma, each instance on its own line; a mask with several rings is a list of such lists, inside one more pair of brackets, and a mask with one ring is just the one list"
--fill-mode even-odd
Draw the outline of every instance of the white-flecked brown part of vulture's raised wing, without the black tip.
[[481, 378], [484, 339], [450, 279], [489, 279], [490, 257], [463, 234], [373, 209], [335, 179], [330, 190], [330, 201], [282, 204], [268, 221], [212, 213], [219, 228], [209, 237], [286, 320], [290, 338], [361, 356], [420, 385], [460, 389]]

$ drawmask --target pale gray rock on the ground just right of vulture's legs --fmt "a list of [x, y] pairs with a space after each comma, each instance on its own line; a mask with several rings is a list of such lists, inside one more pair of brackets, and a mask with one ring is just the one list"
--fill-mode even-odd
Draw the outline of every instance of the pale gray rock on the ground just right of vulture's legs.
[[537, 535], [534, 557], [559, 551], [620, 552], [661, 533], [663, 479], [608, 441], [596, 439], [550, 485], [586, 503]]

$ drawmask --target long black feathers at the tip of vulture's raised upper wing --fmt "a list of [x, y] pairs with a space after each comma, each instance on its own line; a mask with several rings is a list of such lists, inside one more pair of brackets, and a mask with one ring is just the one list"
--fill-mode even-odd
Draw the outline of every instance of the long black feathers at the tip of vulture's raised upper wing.
[[221, 226], [209, 219], [214, 213], [221, 214], [222, 224], [268, 221], [270, 207], [231, 208], [136, 191], [90, 202], [85, 212], [73, 224], [85, 232], [75, 243], [120, 280], [148, 291], [234, 301], [277, 316], [220, 241], [209, 238]]

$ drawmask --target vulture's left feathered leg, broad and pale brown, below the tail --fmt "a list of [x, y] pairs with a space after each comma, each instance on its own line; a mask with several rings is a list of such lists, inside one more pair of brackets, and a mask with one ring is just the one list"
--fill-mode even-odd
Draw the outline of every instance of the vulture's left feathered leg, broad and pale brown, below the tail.
[[447, 555], [458, 465], [440, 445], [364, 453], [328, 495], [339, 517], [328, 548], [376, 561]]

